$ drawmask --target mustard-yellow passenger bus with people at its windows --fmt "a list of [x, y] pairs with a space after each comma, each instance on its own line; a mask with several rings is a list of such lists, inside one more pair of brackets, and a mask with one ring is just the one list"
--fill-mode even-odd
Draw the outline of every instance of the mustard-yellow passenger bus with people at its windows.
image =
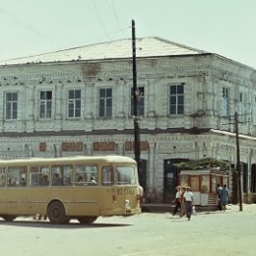
[[136, 161], [127, 157], [0, 160], [0, 217], [46, 215], [52, 224], [141, 213]]

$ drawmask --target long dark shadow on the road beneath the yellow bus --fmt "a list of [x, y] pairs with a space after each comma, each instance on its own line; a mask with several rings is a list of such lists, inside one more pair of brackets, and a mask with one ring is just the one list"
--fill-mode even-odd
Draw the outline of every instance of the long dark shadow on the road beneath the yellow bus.
[[12, 226], [27, 226], [27, 227], [40, 227], [40, 228], [58, 228], [58, 229], [72, 229], [72, 228], [98, 228], [98, 227], [118, 227], [131, 224], [50, 224], [49, 222], [36, 222], [36, 221], [14, 221], [6, 222], [0, 221], [0, 225], [12, 225]]

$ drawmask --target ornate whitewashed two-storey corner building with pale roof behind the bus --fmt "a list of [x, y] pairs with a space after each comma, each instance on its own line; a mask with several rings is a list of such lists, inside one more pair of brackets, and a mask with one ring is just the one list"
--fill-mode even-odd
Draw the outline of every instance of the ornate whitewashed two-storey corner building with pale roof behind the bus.
[[[159, 37], [137, 39], [140, 180], [169, 202], [177, 160], [236, 165], [256, 192], [256, 70]], [[134, 158], [131, 40], [0, 62], [0, 159], [78, 155]]]

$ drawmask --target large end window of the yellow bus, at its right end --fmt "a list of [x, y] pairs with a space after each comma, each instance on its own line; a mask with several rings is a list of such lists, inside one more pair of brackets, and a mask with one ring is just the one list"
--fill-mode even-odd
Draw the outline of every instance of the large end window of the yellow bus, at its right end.
[[119, 185], [135, 185], [136, 173], [133, 166], [118, 165], [115, 167], [117, 173], [117, 184]]

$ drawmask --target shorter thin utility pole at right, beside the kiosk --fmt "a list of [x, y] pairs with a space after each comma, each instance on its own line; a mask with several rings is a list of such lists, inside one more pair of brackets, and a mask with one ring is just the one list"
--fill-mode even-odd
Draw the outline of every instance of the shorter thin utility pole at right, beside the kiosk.
[[239, 149], [239, 133], [238, 133], [237, 112], [234, 113], [234, 125], [235, 125], [235, 139], [236, 139], [236, 170], [237, 170], [237, 176], [238, 176], [239, 211], [242, 212], [241, 163], [240, 163], [240, 149]]

